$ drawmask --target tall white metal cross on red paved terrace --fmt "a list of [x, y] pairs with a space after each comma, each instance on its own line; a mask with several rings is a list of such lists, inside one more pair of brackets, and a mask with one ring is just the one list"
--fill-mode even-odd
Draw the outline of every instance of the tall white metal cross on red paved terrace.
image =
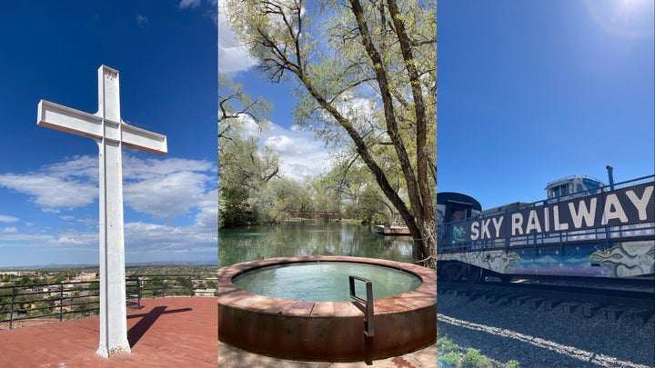
[[118, 71], [98, 68], [98, 111], [88, 114], [41, 100], [36, 124], [94, 139], [100, 150], [100, 345], [97, 353], [131, 353], [127, 341], [123, 146], [166, 154], [166, 135], [125, 124], [120, 116]]

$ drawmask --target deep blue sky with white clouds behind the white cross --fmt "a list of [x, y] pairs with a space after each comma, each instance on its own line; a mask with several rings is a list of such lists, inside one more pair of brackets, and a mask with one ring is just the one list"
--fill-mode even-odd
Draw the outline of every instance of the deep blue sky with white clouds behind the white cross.
[[123, 120], [168, 143], [123, 151], [126, 263], [217, 264], [216, 0], [80, 0], [0, 12], [0, 267], [98, 263], [97, 144], [36, 108], [96, 113], [100, 65]]

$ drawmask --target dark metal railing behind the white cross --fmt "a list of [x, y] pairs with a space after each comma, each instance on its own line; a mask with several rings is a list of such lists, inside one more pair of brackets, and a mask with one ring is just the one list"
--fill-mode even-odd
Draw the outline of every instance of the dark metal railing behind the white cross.
[[[128, 309], [140, 309], [142, 298], [195, 296], [205, 279], [188, 274], [126, 277]], [[216, 296], [216, 289], [213, 295]], [[70, 281], [0, 286], [0, 328], [25, 320], [59, 320], [96, 315], [100, 308], [98, 281]]]

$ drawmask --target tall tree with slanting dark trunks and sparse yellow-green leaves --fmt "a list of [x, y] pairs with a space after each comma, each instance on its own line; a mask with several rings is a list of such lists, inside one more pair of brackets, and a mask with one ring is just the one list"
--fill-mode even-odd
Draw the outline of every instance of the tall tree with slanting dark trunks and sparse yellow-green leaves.
[[[297, 124], [333, 147], [354, 146], [408, 225], [417, 262], [435, 267], [435, 2], [228, 0], [227, 9], [260, 73], [296, 84]], [[325, 24], [313, 25], [314, 11], [326, 12]], [[406, 195], [389, 166], [400, 168]]]

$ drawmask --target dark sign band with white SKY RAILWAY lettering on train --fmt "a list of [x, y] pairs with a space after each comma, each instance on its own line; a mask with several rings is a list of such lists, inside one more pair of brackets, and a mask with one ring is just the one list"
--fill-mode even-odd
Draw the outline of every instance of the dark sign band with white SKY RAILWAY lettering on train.
[[556, 204], [537, 205], [458, 224], [464, 241], [589, 230], [655, 222], [653, 182], [592, 194]]

